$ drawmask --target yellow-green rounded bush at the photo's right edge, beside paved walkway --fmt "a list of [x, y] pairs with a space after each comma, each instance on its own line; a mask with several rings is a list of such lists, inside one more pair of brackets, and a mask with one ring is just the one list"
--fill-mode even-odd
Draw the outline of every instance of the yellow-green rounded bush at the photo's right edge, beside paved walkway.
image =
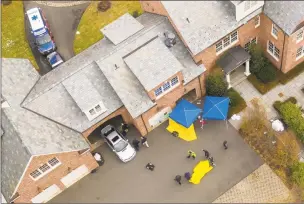
[[291, 102], [286, 102], [280, 105], [279, 112], [284, 122], [291, 127], [297, 137], [304, 142], [304, 118], [302, 117], [300, 108]]

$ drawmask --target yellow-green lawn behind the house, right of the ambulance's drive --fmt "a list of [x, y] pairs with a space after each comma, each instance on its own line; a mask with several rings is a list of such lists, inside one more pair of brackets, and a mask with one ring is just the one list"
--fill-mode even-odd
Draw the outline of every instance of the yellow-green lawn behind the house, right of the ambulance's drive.
[[74, 40], [75, 54], [101, 40], [104, 36], [100, 29], [118, 17], [127, 12], [131, 15], [134, 11], [138, 11], [139, 15], [143, 13], [139, 1], [111, 1], [111, 8], [106, 12], [98, 11], [97, 4], [97, 1], [93, 1], [83, 13], [77, 28], [80, 34], [76, 35]]

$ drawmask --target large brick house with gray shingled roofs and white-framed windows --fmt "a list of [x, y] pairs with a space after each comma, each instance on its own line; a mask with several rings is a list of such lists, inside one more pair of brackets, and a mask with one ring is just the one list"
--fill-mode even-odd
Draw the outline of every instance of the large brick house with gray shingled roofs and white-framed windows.
[[6, 200], [47, 202], [87, 175], [106, 124], [124, 121], [147, 135], [178, 100], [205, 94], [205, 76], [224, 53], [236, 61], [227, 76], [243, 64], [250, 74], [251, 43], [283, 72], [304, 60], [302, 2], [141, 3], [147, 12], [101, 28], [104, 39], [42, 77], [28, 60], [3, 59]]

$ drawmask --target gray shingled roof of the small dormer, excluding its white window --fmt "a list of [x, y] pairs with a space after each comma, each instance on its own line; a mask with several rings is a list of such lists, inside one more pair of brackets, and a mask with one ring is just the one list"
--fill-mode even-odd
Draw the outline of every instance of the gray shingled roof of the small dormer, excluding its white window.
[[82, 112], [102, 102], [102, 97], [85, 74], [74, 74], [62, 82]]

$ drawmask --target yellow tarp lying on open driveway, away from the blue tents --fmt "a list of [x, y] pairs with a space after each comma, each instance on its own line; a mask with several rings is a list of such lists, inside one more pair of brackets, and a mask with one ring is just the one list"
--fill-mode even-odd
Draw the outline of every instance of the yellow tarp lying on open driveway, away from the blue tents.
[[194, 167], [193, 174], [189, 182], [193, 184], [199, 184], [201, 182], [201, 179], [212, 169], [213, 167], [209, 164], [208, 160], [200, 161]]

